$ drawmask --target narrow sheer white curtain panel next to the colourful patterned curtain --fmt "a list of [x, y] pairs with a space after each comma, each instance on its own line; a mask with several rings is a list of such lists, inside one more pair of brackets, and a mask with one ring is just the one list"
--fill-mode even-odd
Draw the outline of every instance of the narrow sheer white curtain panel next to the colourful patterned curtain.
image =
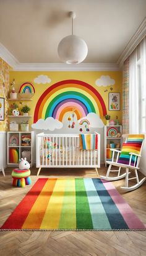
[[129, 57], [129, 134], [140, 132], [140, 91], [137, 74], [137, 49], [135, 49]]

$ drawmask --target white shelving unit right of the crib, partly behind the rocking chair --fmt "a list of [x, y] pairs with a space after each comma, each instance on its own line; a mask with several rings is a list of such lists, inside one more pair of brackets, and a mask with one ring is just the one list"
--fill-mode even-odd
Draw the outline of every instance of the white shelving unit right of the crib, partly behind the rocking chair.
[[[108, 129], [116, 129], [118, 130], [118, 133], [120, 133], [120, 137], [117, 137], [116, 135], [109, 136]], [[105, 126], [104, 127], [104, 159], [105, 159], [105, 166], [106, 166], [106, 160], [111, 161], [112, 159], [112, 152], [110, 150], [110, 147], [108, 145], [110, 144], [110, 141], [113, 141], [115, 144], [115, 149], [121, 150], [122, 145], [122, 126]], [[119, 144], [119, 147], [116, 147], [116, 145]], [[109, 153], [110, 152], [110, 153]], [[111, 155], [110, 155], [111, 154]], [[116, 153], [114, 153], [116, 157]]]

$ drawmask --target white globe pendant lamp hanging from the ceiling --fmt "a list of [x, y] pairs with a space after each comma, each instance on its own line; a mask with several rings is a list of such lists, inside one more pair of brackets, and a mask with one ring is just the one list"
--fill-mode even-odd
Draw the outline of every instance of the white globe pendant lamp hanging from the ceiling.
[[58, 55], [62, 62], [67, 64], [79, 64], [87, 57], [88, 47], [83, 39], [73, 35], [73, 20], [75, 12], [69, 12], [72, 19], [72, 35], [64, 37], [58, 45]]

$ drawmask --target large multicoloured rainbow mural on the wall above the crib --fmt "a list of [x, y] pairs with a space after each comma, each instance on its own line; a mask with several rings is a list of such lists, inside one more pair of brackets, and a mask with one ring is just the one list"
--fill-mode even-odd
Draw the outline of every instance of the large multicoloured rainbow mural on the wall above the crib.
[[66, 112], [75, 109], [77, 119], [94, 112], [106, 115], [106, 106], [97, 89], [80, 80], [63, 80], [50, 86], [38, 99], [33, 122], [53, 117], [62, 122]]

